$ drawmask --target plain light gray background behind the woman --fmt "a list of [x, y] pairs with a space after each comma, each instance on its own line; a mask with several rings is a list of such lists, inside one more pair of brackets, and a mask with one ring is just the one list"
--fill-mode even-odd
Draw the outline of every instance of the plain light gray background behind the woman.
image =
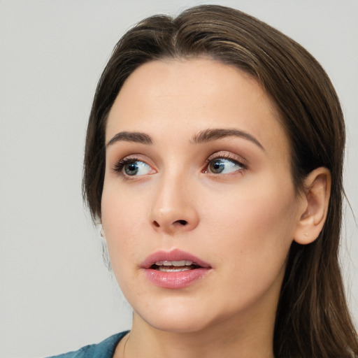
[[[205, 1], [244, 10], [305, 46], [331, 76], [348, 127], [345, 185], [358, 216], [358, 1]], [[85, 127], [96, 82], [132, 24], [204, 1], [0, 1], [0, 356], [74, 350], [131, 313], [83, 208]], [[358, 320], [358, 231], [342, 261]]]

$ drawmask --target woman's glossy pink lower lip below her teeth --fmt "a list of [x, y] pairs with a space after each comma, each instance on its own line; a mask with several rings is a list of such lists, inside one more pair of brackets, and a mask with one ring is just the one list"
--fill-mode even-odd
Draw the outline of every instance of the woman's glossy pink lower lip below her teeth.
[[154, 285], [164, 288], [180, 289], [192, 285], [197, 280], [204, 278], [210, 272], [210, 268], [194, 268], [187, 271], [158, 271], [145, 268], [145, 275]]

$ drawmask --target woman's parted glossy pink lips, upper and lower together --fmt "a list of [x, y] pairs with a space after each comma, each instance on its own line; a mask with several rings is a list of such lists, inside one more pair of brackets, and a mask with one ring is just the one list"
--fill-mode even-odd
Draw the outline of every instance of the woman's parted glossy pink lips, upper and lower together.
[[[158, 261], [192, 261], [199, 265], [199, 268], [194, 268], [187, 271], [158, 271], [151, 266]], [[154, 285], [168, 288], [181, 289], [193, 285], [194, 282], [201, 280], [211, 271], [212, 267], [208, 262], [204, 262], [199, 257], [196, 257], [189, 252], [182, 250], [171, 251], [157, 251], [148, 256], [141, 264], [146, 278]]]

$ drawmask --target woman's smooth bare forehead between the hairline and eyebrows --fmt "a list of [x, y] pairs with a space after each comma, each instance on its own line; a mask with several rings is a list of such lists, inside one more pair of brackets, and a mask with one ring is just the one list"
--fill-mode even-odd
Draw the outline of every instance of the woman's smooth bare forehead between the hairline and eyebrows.
[[131, 73], [108, 116], [106, 141], [144, 131], [160, 141], [210, 128], [247, 131], [265, 147], [288, 149], [275, 105], [255, 78], [206, 58], [148, 62]]

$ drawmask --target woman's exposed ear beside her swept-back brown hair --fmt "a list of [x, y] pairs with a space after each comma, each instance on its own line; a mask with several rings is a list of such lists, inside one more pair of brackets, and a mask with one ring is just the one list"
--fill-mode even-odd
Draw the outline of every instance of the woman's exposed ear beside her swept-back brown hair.
[[301, 217], [294, 231], [294, 241], [312, 243], [320, 235], [327, 217], [331, 194], [331, 172], [324, 167], [311, 171], [304, 180]]

